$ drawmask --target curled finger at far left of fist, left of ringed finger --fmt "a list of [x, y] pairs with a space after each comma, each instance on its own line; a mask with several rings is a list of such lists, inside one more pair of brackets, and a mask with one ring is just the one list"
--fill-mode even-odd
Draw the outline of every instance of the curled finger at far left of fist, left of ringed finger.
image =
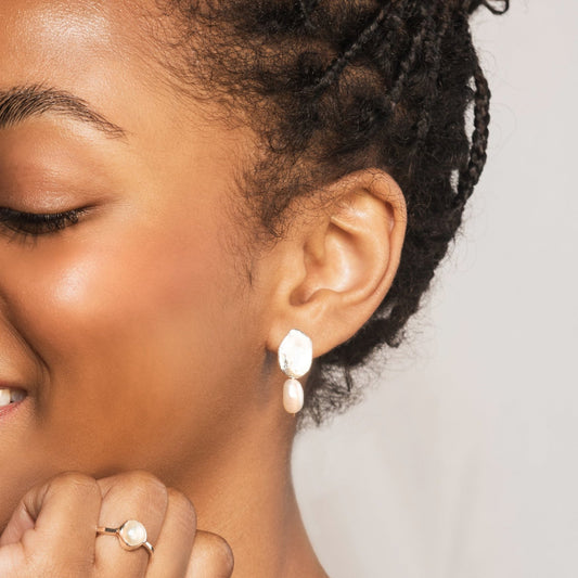
[[[2, 541], [12, 547], [18, 542], [29, 563], [49, 560], [53, 567], [77, 568], [89, 576], [100, 509], [101, 492], [95, 479], [79, 473], [61, 474], [24, 496]], [[15, 551], [11, 549], [12, 553]]]

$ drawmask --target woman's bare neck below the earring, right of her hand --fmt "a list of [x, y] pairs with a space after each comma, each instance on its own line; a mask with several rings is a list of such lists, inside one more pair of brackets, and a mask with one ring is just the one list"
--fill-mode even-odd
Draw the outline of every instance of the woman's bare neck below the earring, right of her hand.
[[281, 426], [252, 421], [251, 427], [229, 435], [227, 444], [213, 446], [201, 462], [195, 459], [174, 484], [193, 501], [198, 528], [222, 536], [231, 545], [235, 578], [326, 578], [295, 497], [294, 435], [294, 419], [286, 414]]

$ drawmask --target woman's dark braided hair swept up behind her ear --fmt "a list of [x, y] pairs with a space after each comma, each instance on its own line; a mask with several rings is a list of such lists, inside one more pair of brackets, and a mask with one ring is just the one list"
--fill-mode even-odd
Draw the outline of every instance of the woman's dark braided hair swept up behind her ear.
[[509, 0], [164, 0], [178, 22], [163, 62], [177, 86], [258, 136], [240, 188], [266, 239], [283, 235], [296, 197], [355, 170], [383, 168], [403, 191], [393, 285], [356, 335], [316, 360], [301, 423], [359, 397], [355, 370], [402, 343], [460, 228], [488, 143], [490, 90], [468, 23], [480, 7], [502, 14]]

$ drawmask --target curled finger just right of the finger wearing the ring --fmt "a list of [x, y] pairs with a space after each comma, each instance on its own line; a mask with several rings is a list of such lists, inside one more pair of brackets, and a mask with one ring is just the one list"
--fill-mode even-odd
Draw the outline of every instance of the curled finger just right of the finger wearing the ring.
[[146, 578], [187, 576], [195, 531], [196, 514], [193, 504], [183, 493], [169, 488], [165, 523]]

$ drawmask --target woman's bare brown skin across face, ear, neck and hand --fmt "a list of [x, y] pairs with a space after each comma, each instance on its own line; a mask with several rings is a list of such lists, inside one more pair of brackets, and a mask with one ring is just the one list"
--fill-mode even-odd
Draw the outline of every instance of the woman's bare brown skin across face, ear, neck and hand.
[[[371, 317], [403, 195], [384, 171], [348, 175], [258, 251], [235, 189], [255, 137], [174, 90], [153, 12], [0, 3], [0, 93], [73, 94], [123, 130], [63, 110], [0, 128], [0, 207], [88, 207], [36, 239], [0, 224], [0, 383], [27, 393], [0, 411], [0, 576], [217, 578], [234, 556], [235, 578], [321, 578], [277, 349], [296, 327], [319, 357]], [[155, 562], [94, 536], [128, 518]]]

